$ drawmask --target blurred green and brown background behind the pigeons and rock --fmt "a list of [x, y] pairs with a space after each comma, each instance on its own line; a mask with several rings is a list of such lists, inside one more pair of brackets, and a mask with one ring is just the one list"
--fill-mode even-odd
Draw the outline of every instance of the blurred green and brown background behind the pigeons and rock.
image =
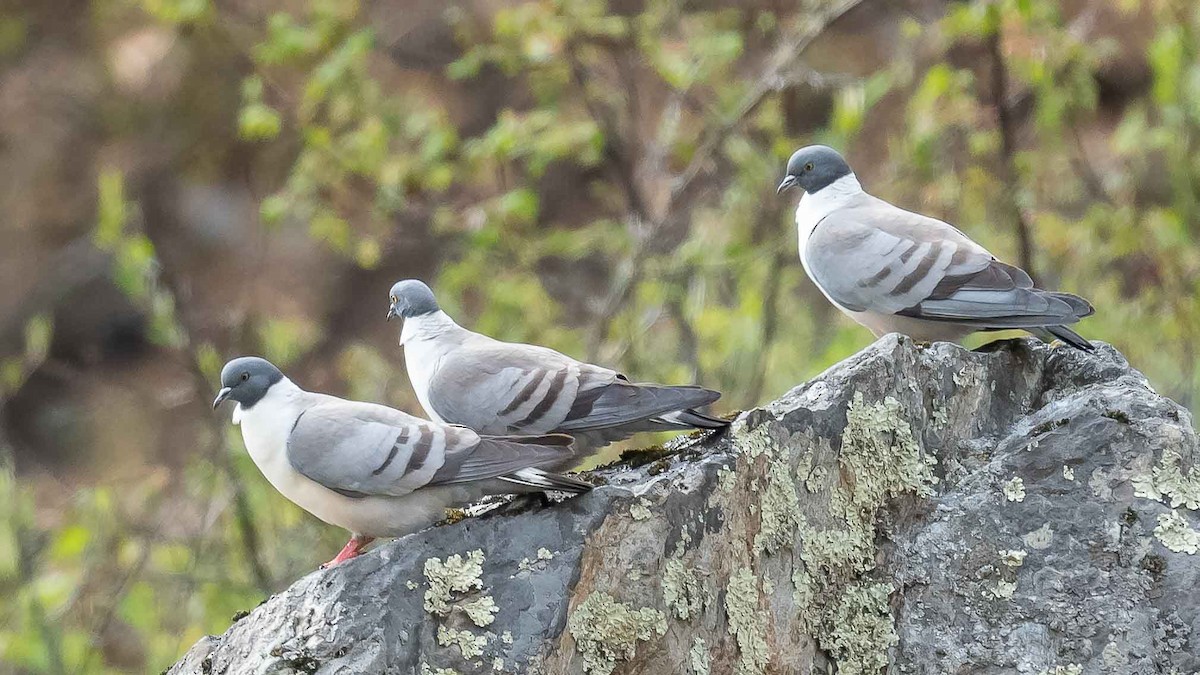
[[1196, 410], [1198, 37], [1194, 0], [6, 0], [0, 671], [156, 673], [331, 556], [209, 406], [254, 353], [419, 412], [398, 279], [722, 413], [866, 346], [775, 196], [812, 142]]

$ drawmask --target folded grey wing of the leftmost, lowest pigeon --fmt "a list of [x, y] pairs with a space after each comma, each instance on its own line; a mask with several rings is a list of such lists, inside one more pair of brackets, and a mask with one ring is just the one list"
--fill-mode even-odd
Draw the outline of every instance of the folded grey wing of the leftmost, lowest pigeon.
[[288, 435], [292, 467], [347, 496], [402, 496], [430, 484], [446, 456], [479, 444], [469, 429], [382, 406], [335, 401], [301, 413]]

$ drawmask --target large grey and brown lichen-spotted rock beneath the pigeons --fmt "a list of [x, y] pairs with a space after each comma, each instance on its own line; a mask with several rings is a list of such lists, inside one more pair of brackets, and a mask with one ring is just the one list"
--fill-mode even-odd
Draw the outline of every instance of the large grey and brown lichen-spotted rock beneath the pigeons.
[[1111, 347], [887, 336], [590, 495], [314, 572], [170, 673], [1195, 673], [1196, 453]]

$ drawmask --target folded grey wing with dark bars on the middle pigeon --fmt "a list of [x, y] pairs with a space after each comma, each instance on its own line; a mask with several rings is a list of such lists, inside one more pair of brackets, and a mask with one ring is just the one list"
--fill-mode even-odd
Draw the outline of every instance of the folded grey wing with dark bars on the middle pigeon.
[[481, 434], [547, 434], [577, 396], [616, 380], [613, 371], [552, 350], [498, 344], [446, 358], [430, 380], [428, 399], [442, 419]]

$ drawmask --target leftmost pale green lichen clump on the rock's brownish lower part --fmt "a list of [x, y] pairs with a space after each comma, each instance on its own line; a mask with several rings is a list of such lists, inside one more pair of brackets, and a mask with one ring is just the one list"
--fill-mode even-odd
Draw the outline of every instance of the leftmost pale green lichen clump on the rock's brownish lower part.
[[634, 658], [637, 643], [662, 637], [666, 616], [652, 608], [630, 609], [605, 592], [587, 597], [566, 622], [584, 673], [608, 675], [618, 661]]

